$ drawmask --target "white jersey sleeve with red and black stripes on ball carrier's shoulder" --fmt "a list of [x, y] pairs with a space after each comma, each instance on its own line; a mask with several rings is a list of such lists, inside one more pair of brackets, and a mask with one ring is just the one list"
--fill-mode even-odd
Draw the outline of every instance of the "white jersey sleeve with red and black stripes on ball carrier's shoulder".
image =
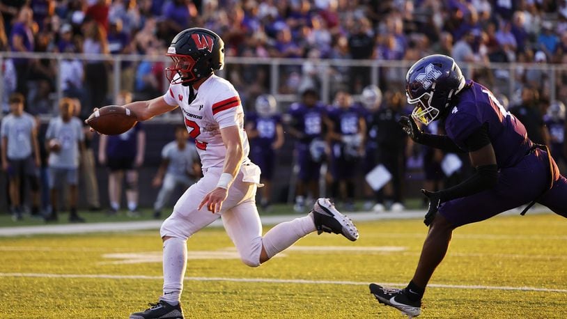
[[219, 123], [219, 129], [240, 125], [238, 114], [244, 113], [238, 92], [227, 86], [212, 100], [212, 118]]

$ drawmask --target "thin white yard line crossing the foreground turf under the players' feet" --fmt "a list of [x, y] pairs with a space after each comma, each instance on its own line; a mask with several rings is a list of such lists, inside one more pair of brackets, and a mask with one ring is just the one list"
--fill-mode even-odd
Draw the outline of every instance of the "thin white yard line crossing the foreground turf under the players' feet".
[[[0, 277], [26, 277], [26, 278], [86, 278], [86, 279], [150, 279], [161, 280], [161, 276], [143, 275], [116, 275], [116, 274], [40, 274], [22, 272], [0, 272]], [[231, 281], [245, 283], [303, 283], [309, 285], [355, 285], [367, 286], [367, 282], [360, 281], [331, 281], [331, 280], [304, 280], [304, 279], [270, 279], [270, 278], [225, 278], [225, 277], [185, 277], [186, 281]], [[384, 286], [404, 287], [406, 283], [380, 283]], [[512, 287], [512, 286], [481, 286], [481, 285], [445, 285], [430, 283], [428, 287], [448, 289], [476, 289], [476, 290], [518, 290], [541, 291], [545, 293], [567, 293], [567, 289], [538, 288], [538, 287]]]

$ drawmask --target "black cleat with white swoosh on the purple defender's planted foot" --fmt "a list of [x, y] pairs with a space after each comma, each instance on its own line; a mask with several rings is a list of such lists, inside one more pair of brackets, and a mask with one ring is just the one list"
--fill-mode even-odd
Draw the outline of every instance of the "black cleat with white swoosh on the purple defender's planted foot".
[[380, 304], [393, 306], [409, 318], [417, 317], [421, 314], [421, 300], [412, 302], [405, 295], [405, 290], [403, 289], [382, 287], [375, 283], [371, 283], [368, 288], [370, 288], [370, 293], [376, 297]]

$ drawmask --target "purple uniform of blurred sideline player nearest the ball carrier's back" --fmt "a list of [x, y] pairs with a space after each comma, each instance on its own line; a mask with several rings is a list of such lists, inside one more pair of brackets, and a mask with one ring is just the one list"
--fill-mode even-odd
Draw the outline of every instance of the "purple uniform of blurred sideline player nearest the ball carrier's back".
[[250, 139], [250, 160], [260, 166], [262, 178], [272, 180], [274, 175], [274, 164], [276, 162], [275, 152], [272, 144], [276, 141], [277, 125], [281, 124], [281, 116], [259, 116], [256, 113], [247, 114], [247, 122], [254, 125], [258, 136]]

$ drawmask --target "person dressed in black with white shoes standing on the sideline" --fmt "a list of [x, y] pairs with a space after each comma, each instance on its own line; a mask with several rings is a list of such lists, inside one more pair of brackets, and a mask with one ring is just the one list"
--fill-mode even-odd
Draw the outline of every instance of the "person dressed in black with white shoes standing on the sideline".
[[[403, 132], [398, 120], [403, 114], [405, 98], [400, 92], [390, 93], [387, 103], [380, 108], [373, 118], [373, 125], [378, 127], [378, 162], [391, 173], [391, 180], [378, 192], [375, 210], [389, 208], [394, 211], [404, 210], [403, 187], [405, 181], [405, 157], [407, 134]], [[380, 205], [384, 205], [380, 209]]]

